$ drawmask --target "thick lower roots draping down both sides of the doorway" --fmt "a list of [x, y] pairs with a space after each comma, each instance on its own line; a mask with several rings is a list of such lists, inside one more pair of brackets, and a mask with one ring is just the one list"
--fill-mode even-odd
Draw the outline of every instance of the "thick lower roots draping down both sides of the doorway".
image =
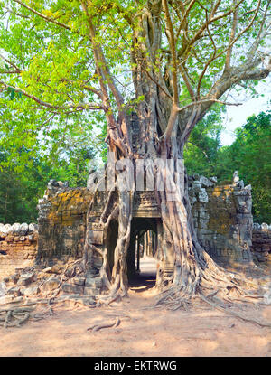
[[[146, 141], [144, 146], [149, 147], [149, 145], [150, 142]], [[156, 158], [166, 162], [169, 155], [179, 155], [178, 150], [175, 150], [174, 147], [176, 147], [176, 144], [173, 146], [171, 143], [163, 142], [162, 146], [157, 147], [153, 143], [152, 157], [154, 158], [155, 150]], [[183, 145], [181, 145], [181, 149], [183, 149]], [[119, 155], [119, 152], [115, 152], [114, 155]], [[135, 167], [138, 158], [140, 158], [140, 155], [135, 153], [132, 156], [129, 155], [128, 160]], [[124, 159], [118, 160], [123, 161]], [[240, 295], [247, 294], [240, 288], [240, 285], [244, 283], [240, 283], [238, 277], [233, 278], [228, 271], [217, 266], [201, 248], [197, 240], [193, 227], [188, 195], [188, 178], [184, 164], [178, 163], [178, 159], [175, 158], [171, 164], [173, 168], [167, 168], [166, 163], [161, 164], [162, 166], [160, 165], [161, 167], [158, 169], [149, 169], [149, 163], [146, 163], [146, 165], [145, 173], [154, 173], [154, 194], [160, 207], [162, 220], [164, 261], [160, 263], [156, 279], [156, 287], [163, 293], [160, 302], [168, 300], [167, 304], [169, 304], [169, 301], [173, 301], [174, 308], [177, 308], [191, 303], [194, 295], [204, 295], [204, 291], [210, 294], [217, 293], [219, 290], [217, 295], [225, 296], [229, 294], [229, 289], [236, 288]], [[117, 171], [116, 173], [118, 177], [120, 172]], [[180, 175], [183, 175], [183, 179], [180, 178]], [[164, 189], [161, 189], [159, 185], [162, 178], [164, 178]], [[114, 189], [117, 191], [118, 200], [110, 205], [109, 202]], [[103, 277], [104, 286], [108, 288], [108, 294], [101, 300], [106, 299], [107, 302], [116, 300], [119, 296], [125, 296], [128, 291], [127, 250], [131, 234], [135, 182], [128, 191], [119, 190], [117, 183], [114, 185], [114, 189], [106, 194], [107, 204], [101, 217], [104, 230], [107, 230], [111, 220], [118, 221], [118, 237], [111, 277], [107, 273], [107, 248], [102, 254], [104, 263], [100, 275]], [[91, 216], [91, 206], [89, 207], [89, 215]], [[86, 254], [88, 248], [89, 241], [87, 239]], [[90, 248], [92, 254], [96, 250], [99, 251], [91, 244]]]

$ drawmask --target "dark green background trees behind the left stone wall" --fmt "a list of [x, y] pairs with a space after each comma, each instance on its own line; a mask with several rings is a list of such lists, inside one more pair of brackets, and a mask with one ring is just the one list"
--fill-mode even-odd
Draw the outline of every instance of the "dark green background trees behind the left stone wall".
[[[1, 158], [5, 157], [2, 152]], [[70, 186], [85, 186], [88, 162], [93, 150], [74, 150], [72, 158], [53, 163], [49, 159], [33, 158], [23, 164], [21, 172], [15, 167], [2, 166], [0, 172], [0, 222], [31, 222], [37, 220], [36, 206], [51, 179], [69, 181]]]

